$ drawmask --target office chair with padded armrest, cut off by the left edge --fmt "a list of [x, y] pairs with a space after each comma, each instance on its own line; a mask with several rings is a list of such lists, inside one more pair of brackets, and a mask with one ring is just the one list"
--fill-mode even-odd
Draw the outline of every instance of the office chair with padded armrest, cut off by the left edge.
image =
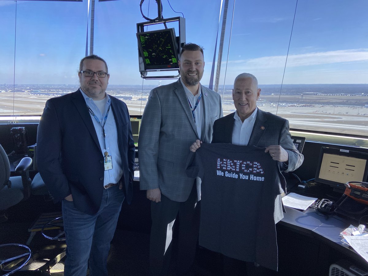
[[15, 168], [15, 172], [21, 176], [10, 177], [9, 159], [4, 148], [0, 145], [0, 222], [7, 221], [6, 210], [8, 208], [22, 199], [28, 199], [31, 190], [28, 170], [31, 165], [31, 158], [22, 158]]

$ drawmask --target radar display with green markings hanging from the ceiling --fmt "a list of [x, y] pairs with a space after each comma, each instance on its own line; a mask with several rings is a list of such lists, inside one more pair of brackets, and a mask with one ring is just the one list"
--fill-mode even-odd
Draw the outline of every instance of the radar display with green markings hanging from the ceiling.
[[177, 69], [178, 43], [174, 28], [137, 33], [144, 70]]

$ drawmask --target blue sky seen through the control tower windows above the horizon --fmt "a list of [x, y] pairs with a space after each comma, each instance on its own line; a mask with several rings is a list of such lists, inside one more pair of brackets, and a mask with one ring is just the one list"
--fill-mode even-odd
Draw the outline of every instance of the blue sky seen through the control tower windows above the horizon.
[[[139, 2], [96, 0], [94, 53], [107, 61], [110, 84], [142, 84], [135, 33], [136, 23], [145, 20]], [[220, 84], [234, 1], [229, 2]], [[205, 48], [203, 84], [209, 82], [220, 3], [170, 0], [186, 19], [186, 41]], [[163, 17], [180, 16], [167, 0], [162, 4]], [[15, 48], [15, 84], [77, 84], [79, 60], [85, 54], [88, 1], [18, 0], [16, 38], [15, 5], [0, 0], [0, 83], [13, 84]], [[291, 0], [235, 1], [226, 84], [241, 72], [254, 74], [259, 84], [281, 83], [295, 6]], [[154, 0], [145, 0], [143, 10], [150, 18], [157, 16]], [[367, 83], [367, 10], [366, 0], [299, 0], [284, 84]]]

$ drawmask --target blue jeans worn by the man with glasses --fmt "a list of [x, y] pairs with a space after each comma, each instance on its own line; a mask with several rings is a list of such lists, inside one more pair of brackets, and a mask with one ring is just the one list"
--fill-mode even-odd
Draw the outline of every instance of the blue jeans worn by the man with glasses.
[[64, 276], [107, 275], [107, 256], [117, 220], [124, 201], [119, 186], [104, 189], [100, 209], [96, 215], [87, 215], [63, 199], [62, 212], [66, 236]]

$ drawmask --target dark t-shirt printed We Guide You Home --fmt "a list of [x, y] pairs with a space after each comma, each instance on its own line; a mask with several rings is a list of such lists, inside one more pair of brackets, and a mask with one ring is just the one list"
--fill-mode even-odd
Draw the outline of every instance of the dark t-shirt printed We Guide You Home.
[[277, 270], [277, 162], [264, 148], [216, 143], [202, 144], [188, 164], [188, 176], [202, 179], [199, 245]]

